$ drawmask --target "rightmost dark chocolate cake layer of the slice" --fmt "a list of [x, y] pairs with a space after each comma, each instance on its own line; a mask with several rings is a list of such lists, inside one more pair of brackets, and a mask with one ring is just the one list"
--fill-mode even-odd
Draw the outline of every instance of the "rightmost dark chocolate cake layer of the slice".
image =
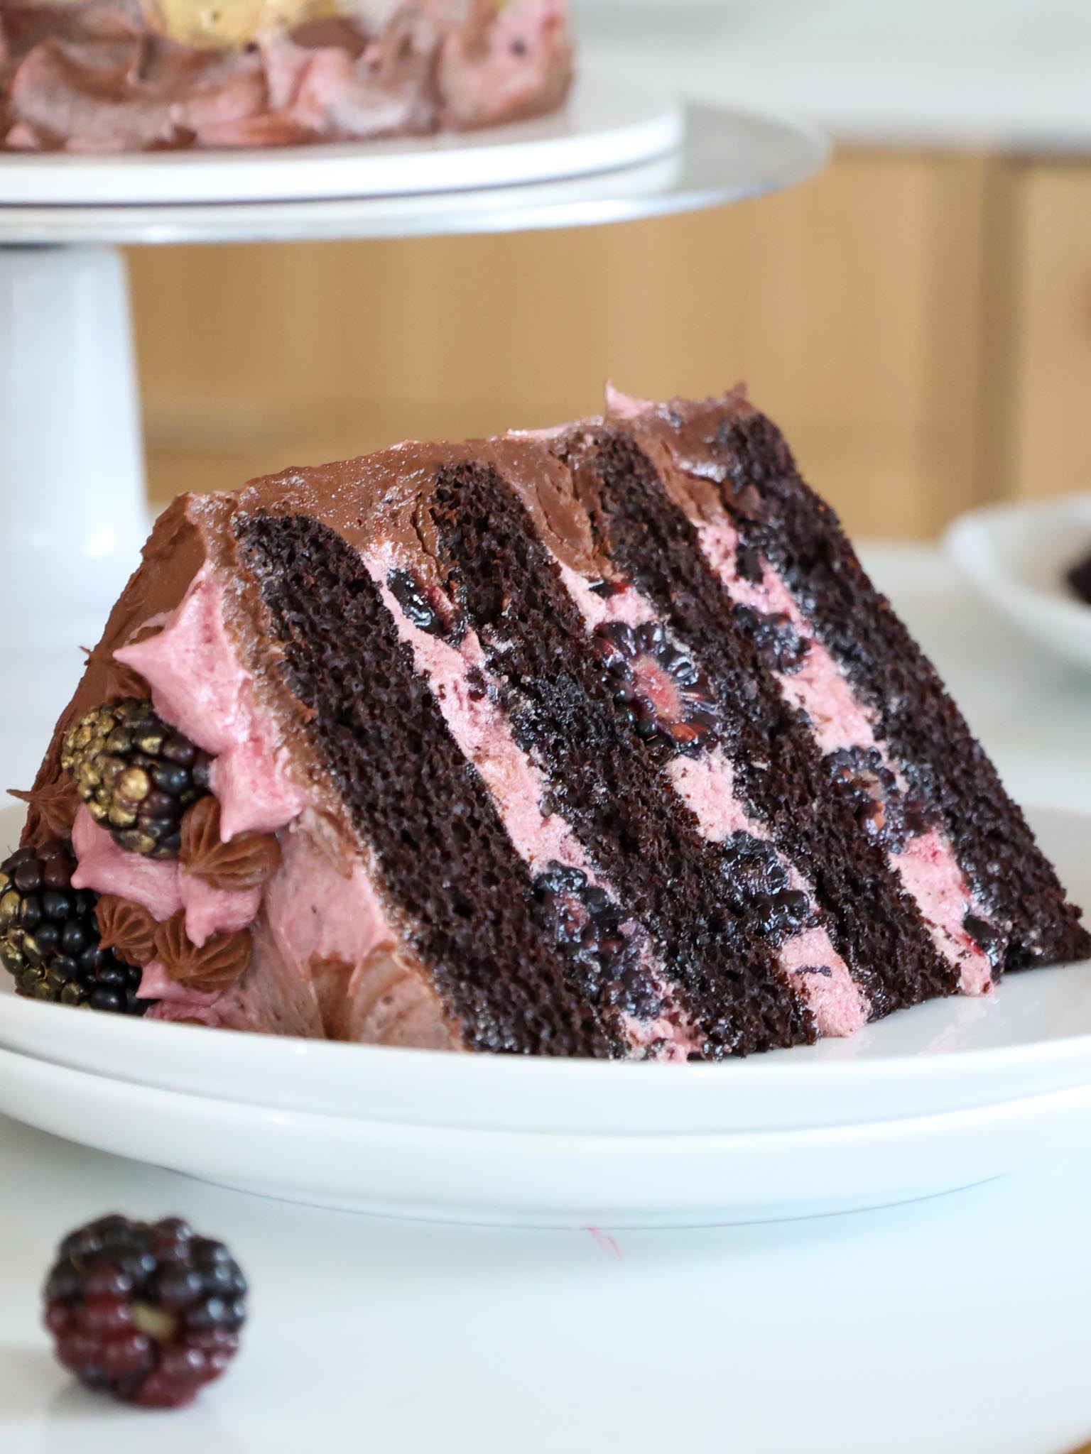
[[743, 548], [770, 560], [803, 614], [876, 715], [915, 797], [947, 826], [954, 852], [992, 925], [967, 923], [1004, 967], [1081, 958], [1091, 939], [1066, 901], [1020, 808], [973, 739], [931, 663], [871, 585], [834, 510], [800, 478], [780, 430], [746, 407], [688, 422], [704, 477], [719, 464], [724, 507]]

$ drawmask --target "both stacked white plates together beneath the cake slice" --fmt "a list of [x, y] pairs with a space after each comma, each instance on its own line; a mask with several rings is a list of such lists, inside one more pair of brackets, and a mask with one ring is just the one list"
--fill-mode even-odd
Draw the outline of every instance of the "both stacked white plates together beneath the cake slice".
[[[1091, 819], [1033, 819], [1091, 903]], [[0, 839], [16, 826], [0, 816]], [[281, 1040], [4, 993], [0, 1111], [230, 1186], [387, 1216], [596, 1229], [819, 1216], [1082, 1154], [1091, 965], [719, 1066]]]

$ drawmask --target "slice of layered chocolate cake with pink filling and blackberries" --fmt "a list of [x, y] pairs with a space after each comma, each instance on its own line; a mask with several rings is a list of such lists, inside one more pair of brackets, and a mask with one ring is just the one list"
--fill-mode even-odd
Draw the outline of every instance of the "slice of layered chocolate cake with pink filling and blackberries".
[[740, 391], [183, 496], [64, 712], [25, 995], [658, 1060], [1091, 952]]

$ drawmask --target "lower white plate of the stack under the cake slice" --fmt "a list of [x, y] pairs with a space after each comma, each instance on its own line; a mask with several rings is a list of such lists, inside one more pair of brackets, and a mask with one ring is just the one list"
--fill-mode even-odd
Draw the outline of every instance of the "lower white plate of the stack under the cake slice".
[[241, 1191], [500, 1226], [672, 1227], [858, 1211], [1091, 1143], [1091, 1086], [868, 1125], [550, 1136], [353, 1121], [177, 1095], [0, 1051], [0, 1111]]

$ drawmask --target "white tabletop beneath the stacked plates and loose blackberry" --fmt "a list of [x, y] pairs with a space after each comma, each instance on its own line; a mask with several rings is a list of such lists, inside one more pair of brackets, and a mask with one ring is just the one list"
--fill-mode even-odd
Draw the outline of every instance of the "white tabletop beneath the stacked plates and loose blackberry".
[[[1008, 782], [1091, 808], [1091, 678], [1007, 641], [934, 553], [866, 554]], [[887, 1211], [626, 1233], [615, 1252], [586, 1230], [260, 1201], [0, 1120], [0, 1450], [1065, 1454], [1091, 1439], [1090, 1200], [1091, 1169], [1063, 1162]], [[252, 1278], [244, 1355], [193, 1410], [113, 1409], [47, 1354], [52, 1246], [113, 1208], [191, 1217]]]

